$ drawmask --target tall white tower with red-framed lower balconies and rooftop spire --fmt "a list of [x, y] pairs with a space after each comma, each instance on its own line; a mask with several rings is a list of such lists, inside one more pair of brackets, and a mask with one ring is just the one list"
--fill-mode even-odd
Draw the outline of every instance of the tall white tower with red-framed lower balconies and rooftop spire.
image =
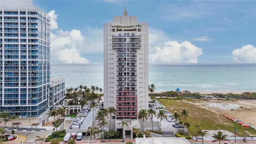
[[137, 118], [148, 109], [148, 24], [115, 16], [104, 24], [104, 108], [116, 118]]

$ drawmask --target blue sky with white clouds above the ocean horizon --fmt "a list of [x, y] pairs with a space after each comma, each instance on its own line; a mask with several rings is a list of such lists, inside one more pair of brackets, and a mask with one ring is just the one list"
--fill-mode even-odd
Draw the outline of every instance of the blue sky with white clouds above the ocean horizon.
[[52, 63], [103, 63], [103, 24], [149, 25], [150, 63], [256, 63], [256, 1], [33, 0], [52, 17]]

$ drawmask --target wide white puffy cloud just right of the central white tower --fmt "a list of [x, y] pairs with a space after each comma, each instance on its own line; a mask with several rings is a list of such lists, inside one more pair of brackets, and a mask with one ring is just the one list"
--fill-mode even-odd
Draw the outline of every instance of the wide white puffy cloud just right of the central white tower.
[[149, 54], [149, 62], [156, 63], [197, 63], [198, 56], [202, 55], [202, 48], [190, 42], [164, 42], [163, 47], [154, 47], [156, 52]]

